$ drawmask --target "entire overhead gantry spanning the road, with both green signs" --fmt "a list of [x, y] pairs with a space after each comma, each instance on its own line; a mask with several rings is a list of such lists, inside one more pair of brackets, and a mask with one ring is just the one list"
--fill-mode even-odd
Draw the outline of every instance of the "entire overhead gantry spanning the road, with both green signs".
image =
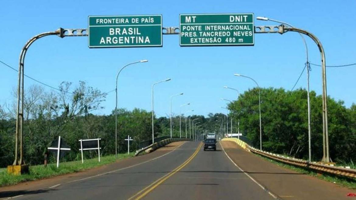
[[[328, 107], [326, 92], [325, 52], [312, 33], [295, 27], [254, 26], [250, 14], [181, 14], [179, 27], [162, 27], [162, 15], [89, 16], [88, 29], [64, 29], [40, 33], [32, 37], [20, 53], [17, 87], [17, 116], [15, 132], [15, 160], [8, 166], [10, 173], [25, 173], [28, 165], [23, 158], [23, 94], [25, 55], [39, 38], [57, 35], [88, 36], [89, 48], [108, 47], [162, 47], [162, 34], [179, 34], [180, 46], [253, 46], [255, 33], [299, 32], [309, 36], [318, 45], [323, 77], [323, 162], [329, 162]], [[166, 30], [166, 32], [162, 32]], [[180, 30], [176, 32], [176, 30]], [[26, 170], [27, 169], [27, 170]]]

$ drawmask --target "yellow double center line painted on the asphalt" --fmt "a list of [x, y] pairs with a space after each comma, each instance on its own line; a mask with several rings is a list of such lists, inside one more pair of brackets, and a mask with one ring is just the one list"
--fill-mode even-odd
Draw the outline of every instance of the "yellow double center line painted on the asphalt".
[[139, 191], [138, 193], [136, 193], [135, 195], [131, 196], [129, 200], [131, 199], [141, 199], [144, 196], [146, 196], [148, 193], [150, 193], [152, 190], [154, 190], [155, 188], [157, 188], [158, 185], [160, 185], [161, 183], [163, 183], [165, 180], [167, 180], [169, 177], [171, 177], [173, 174], [177, 173], [180, 169], [182, 169], [185, 165], [187, 165], [191, 160], [193, 160], [193, 158], [198, 154], [201, 146], [203, 145], [203, 143], [200, 143], [198, 148], [195, 150], [195, 152], [192, 154], [192, 156], [190, 156], [187, 160], [185, 160], [184, 163], [182, 163], [181, 165], [179, 165], [176, 169], [173, 169], [171, 172], [169, 172], [168, 174], [164, 175], [163, 177], [157, 179], [155, 182], [151, 183], [150, 185], [148, 185], [146, 188], [143, 188], [141, 191]]

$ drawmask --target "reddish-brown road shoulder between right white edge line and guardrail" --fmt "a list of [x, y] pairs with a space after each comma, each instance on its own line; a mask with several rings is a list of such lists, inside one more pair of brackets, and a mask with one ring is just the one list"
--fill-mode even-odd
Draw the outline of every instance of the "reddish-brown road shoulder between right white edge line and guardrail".
[[282, 199], [349, 199], [354, 190], [263, 160], [236, 143], [221, 141], [229, 157], [251, 177]]

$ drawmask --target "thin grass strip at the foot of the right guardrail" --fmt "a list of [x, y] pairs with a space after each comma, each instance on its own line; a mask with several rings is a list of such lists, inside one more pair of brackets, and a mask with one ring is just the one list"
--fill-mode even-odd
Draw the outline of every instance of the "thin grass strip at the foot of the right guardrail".
[[294, 171], [299, 172], [299, 173], [307, 174], [307, 175], [319, 178], [321, 180], [326, 180], [326, 181], [329, 181], [331, 183], [335, 183], [337, 185], [340, 185], [340, 186], [343, 186], [343, 187], [346, 187], [346, 188], [356, 189], [356, 179], [346, 178], [346, 177], [341, 177], [341, 176], [332, 175], [332, 174], [326, 174], [326, 173], [325, 174], [324, 173], [320, 174], [320, 173], [318, 173], [318, 172], [316, 172], [315, 170], [312, 170], [312, 169], [302, 168], [302, 167], [298, 167], [298, 166], [295, 166], [295, 165], [283, 163], [283, 162], [280, 162], [278, 160], [273, 160], [271, 158], [261, 156], [259, 154], [255, 154], [255, 155], [258, 156], [258, 157], [261, 157], [262, 159], [268, 160], [269, 162], [277, 164], [278, 166], [281, 166], [281, 167], [284, 167], [284, 168], [288, 168], [288, 169], [294, 170]]

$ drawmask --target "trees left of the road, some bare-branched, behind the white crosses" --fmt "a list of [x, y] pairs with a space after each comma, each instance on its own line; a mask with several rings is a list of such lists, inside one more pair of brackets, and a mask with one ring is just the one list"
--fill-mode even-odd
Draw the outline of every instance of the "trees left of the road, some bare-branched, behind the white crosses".
[[[73, 89], [73, 92], [69, 92]], [[46, 92], [41, 86], [32, 85], [24, 95], [23, 140], [27, 164], [42, 164], [47, 147], [58, 136], [72, 148], [64, 160], [78, 160], [80, 139], [101, 138], [101, 156], [115, 154], [115, 110], [109, 115], [94, 115], [102, 109], [106, 94], [80, 81], [77, 87], [63, 82], [60, 91]], [[16, 95], [15, 95], [16, 96]], [[0, 106], [0, 167], [14, 161], [15, 153], [15, 105]], [[151, 112], [135, 108], [131, 111], [117, 109], [119, 153], [127, 152], [127, 135], [133, 139], [130, 150], [138, 149], [140, 141], [152, 138]], [[191, 118], [205, 120], [204, 116]], [[173, 136], [179, 136], [179, 116], [173, 117]], [[189, 125], [187, 126], [189, 128]], [[189, 132], [189, 130], [188, 130]], [[169, 117], [155, 117], [155, 137], [170, 135]], [[182, 118], [182, 136], [185, 137], [185, 120]], [[188, 135], [189, 137], [189, 135]], [[96, 151], [85, 152], [88, 158], [96, 157]], [[53, 159], [53, 158], [52, 158]]]

